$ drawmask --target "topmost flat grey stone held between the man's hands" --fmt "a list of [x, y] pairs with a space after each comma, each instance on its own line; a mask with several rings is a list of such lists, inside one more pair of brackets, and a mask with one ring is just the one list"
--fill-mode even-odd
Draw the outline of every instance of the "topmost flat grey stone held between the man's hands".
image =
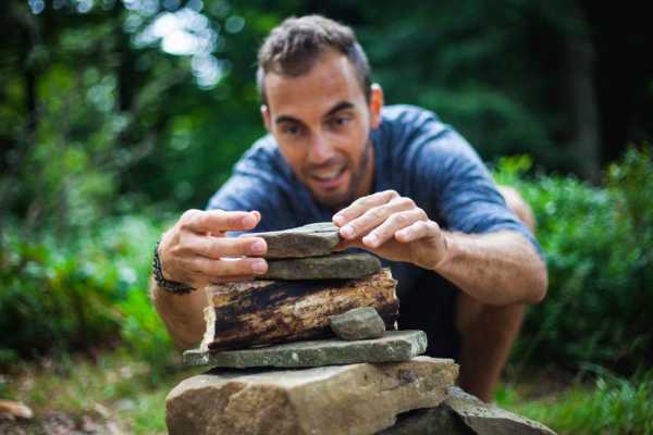
[[331, 222], [318, 222], [296, 228], [251, 233], [243, 236], [262, 237], [268, 244], [268, 259], [326, 256], [341, 241], [340, 228]]

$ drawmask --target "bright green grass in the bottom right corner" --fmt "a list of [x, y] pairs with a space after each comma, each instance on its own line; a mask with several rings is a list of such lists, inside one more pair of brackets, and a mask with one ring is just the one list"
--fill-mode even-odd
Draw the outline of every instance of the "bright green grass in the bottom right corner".
[[504, 387], [498, 405], [542, 422], [559, 434], [653, 434], [653, 371], [630, 380], [599, 370], [590, 385], [555, 396], [525, 400]]

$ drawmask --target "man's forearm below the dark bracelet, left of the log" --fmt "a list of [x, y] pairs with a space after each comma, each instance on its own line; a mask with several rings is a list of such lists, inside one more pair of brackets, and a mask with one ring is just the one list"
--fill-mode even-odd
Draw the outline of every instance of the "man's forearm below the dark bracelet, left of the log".
[[177, 348], [188, 349], [201, 340], [206, 328], [204, 309], [207, 306], [204, 289], [174, 295], [151, 279], [150, 295]]

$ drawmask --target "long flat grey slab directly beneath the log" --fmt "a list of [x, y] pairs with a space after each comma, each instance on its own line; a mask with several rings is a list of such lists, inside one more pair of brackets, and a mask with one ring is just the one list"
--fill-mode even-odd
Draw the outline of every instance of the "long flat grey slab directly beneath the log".
[[309, 368], [358, 362], [407, 361], [427, 350], [423, 331], [387, 331], [382, 338], [344, 341], [337, 338], [285, 343], [242, 350], [184, 352], [186, 365], [221, 368]]

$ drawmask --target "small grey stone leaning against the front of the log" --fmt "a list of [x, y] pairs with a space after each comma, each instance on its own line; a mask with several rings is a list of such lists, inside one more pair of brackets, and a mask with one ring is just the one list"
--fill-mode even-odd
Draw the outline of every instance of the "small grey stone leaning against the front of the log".
[[329, 321], [331, 330], [344, 340], [380, 338], [385, 333], [385, 322], [372, 307], [355, 308]]

